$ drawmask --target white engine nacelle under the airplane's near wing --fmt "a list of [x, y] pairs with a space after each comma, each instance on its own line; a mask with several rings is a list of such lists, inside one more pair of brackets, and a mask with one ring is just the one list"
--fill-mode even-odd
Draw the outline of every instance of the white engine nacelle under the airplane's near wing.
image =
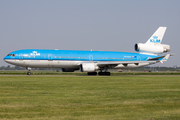
[[94, 72], [98, 70], [99, 67], [95, 63], [82, 63], [81, 72]]

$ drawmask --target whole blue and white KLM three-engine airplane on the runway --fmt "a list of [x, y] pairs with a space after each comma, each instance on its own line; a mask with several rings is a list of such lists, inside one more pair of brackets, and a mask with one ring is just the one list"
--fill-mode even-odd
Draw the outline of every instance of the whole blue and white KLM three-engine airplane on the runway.
[[61, 68], [63, 72], [80, 70], [88, 75], [110, 75], [108, 69], [129, 69], [167, 61], [170, 45], [161, 44], [167, 27], [159, 27], [146, 43], [135, 44], [138, 53], [118, 51], [24, 49], [10, 52], [4, 61], [31, 68]]

